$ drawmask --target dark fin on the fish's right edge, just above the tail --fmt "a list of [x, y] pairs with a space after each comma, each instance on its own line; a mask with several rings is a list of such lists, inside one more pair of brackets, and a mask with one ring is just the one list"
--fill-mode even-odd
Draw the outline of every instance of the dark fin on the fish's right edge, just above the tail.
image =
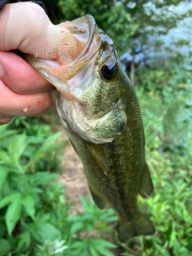
[[150, 172], [148, 171], [148, 167], [146, 163], [143, 168], [143, 174], [142, 174], [141, 182], [139, 185], [138, 193], [143, 198], [150, 198], [150, 196], [154, 193], [152, 178], [151, 178]]

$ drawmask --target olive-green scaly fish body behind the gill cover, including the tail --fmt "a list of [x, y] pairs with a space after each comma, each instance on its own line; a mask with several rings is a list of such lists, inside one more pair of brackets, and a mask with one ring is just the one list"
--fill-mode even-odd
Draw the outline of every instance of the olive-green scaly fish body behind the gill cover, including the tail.
[[119, 238], [127, 242], [139, 234], [154, 233], [153, 225], [137, 206], [137, 194], [140, 193], [144, 198], [150, 196], [153, 193], [153, 185], [144, 159], [144, 133], [137, 97], [124, 71], [122, 75], [127, 122], [121, 136], [111, 143], [101, 144], [106, 156], [106, 175], [90, 153], [86, 141], [77, 135], [63, 118], [59, 100], [57, 109], [67, 135], [83, 163], [96, 205], [100, 209], [109, 205], [115, 210], [119, 220]]

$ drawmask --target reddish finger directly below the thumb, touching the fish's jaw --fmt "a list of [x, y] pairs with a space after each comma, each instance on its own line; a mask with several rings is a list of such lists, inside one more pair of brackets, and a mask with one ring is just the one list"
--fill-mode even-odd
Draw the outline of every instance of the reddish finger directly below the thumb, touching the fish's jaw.
[[11, 52], [0, 52], [3, 67], [2, 81], [17, 94], [32, 94], [55, 90], [45, 78], [40, 76], [22, 57]]

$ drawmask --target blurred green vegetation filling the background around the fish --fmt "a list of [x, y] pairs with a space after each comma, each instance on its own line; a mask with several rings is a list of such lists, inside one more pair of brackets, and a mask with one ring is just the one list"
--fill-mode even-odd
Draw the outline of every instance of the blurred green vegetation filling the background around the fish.
[[[145, 46], [152, 32], [157, 35], [156, 46], [160, 45], [158, 24], [166, 33], [178, 19], [190, 15], [186, 12], [167, 19], [160, 15], [180, 3], [154, 1], [153, 12], [148, 13], [143, 8], [150, 1], [142, 0], [48, 0], [46, 7], [55, 24], [92, 14], [123, 53], [130, 47], [134, 51], [133, 42]], [[153, 23], [154, 15], [157, 20]], [[147, 34], [143, 28], [148, 26], [152, 27]], [[18, 117], [0, 126], [0, 255], [192, 256], [191, 74], [192, 54], [154, 59], [135, 70], [146, 161], [155, 187], [153, 198], [138, 196], [138, 201], [156, 233], [126, 245], [118, 241], [112, 209], [101, 211], [92, 199], [82, 197], [84, 214], [70, 216], [72, 205], [57, 182], [59, 156], [68, 141], [62, 139], [63, 132], [56, 132], [55, 127], [54, 133], [51, 130], [57, 122], [55, 111], [49, 111], [51, 124], [40, 118]]]

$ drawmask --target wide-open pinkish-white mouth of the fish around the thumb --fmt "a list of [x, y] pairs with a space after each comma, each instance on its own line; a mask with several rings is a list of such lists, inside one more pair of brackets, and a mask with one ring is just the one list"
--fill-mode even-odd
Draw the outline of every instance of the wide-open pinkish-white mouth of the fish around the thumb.
[[57, 61], [38, 59], [29, 54], [25, 54], [25, 58], [30, 65], [41, 76], [52, 83], [59, 92], [70, 97], [65, 81], [72, 79], [94, 57], [101, 45], [101, 37], [95, 20], [91, 15], [75, 19], [73, 22], [61, 23], [58, 26], [69, 29], [77, 43], [79, 43], [79, 41], [86, 42], [84, 49], [72, 62], [66, 65], [65, 57], [68, 54], [62, 53], [61, 51], [57, 51], [59, 56]]

